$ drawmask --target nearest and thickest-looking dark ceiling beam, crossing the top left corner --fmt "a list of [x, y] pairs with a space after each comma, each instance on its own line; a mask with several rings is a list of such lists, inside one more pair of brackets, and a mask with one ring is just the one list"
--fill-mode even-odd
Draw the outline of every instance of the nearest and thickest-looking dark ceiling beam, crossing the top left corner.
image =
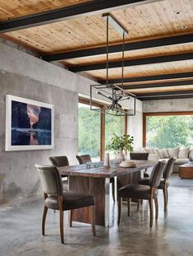
[[0, 33], [27, 29], [32, 26], [42, 26], [53, 22], [76, 19], [80, 16], [111, 12], [121, 8], [159, 1], [160, 0], [94, 0], [84, 2], [71, 7], [63, 7], [48, 12], [41, 12], [8, 21], [1, 21]]

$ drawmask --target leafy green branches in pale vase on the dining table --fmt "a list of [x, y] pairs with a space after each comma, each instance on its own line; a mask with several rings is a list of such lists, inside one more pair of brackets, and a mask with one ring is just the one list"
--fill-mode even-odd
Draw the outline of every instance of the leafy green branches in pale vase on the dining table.
[[129, 134], [117, 136], [115, 133], [113, 133], [111, 144], [108, 145], [108, 149], [113, 149], [116, 152], [116, 163], [126, 160], [127, 151], [133, 152], [133, 141], [133, 136], [130, 136]]

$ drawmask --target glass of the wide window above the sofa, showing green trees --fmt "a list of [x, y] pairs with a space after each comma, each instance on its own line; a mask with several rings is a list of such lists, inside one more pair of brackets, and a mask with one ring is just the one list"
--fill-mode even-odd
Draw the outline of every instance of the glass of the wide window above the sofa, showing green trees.
[[147, 147], [193, 147], [193, 114], [145, 115]]

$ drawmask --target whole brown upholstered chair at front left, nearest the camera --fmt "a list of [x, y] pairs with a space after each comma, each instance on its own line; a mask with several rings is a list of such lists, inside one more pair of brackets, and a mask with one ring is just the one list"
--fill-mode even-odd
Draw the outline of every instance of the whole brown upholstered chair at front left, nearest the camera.
[[62, 178], [56, 166], [35, 165], [39, 171], [44, 191], [44, 213], [42, 218], [42, 235], [45, 234], [45, 221], [48, 208], [59, 211], [61, 242], [64, 243], [63, 235], [63, 211], [71, 211], [69, 215], [70, 226], [72, 224], [72, 210], [80, 207], [90, 207], [90, 219], [95, 235], [95, 208], [94, 197], [78, 191], [63, 192]]

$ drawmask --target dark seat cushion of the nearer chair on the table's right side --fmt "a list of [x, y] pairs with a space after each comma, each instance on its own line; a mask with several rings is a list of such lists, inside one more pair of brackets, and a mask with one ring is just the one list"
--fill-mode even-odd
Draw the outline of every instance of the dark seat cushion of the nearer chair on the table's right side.
[[[153, 198], [158, 195], [158, 189], [154, 190]], [[122, 189], [118, 190], [119, 198], [136, 198], [136, 199], [149, 199], [150, 198], [150, 186], [134, 184], [126, 185]]]

